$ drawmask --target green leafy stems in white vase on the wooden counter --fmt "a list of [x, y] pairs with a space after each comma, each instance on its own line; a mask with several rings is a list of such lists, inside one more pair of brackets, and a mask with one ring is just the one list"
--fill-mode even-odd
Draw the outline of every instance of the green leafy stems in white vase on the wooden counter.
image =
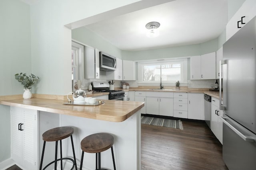
[[24, 87], [23, 98], [30, 99], [32, 97], [30, 89], [35, 83], [40, 80], [40, 78], [38, 76], [35, 76], [34, 74], [27, 76], [26, 73], [23, 74], [22, 72], [20, 74], [17, 73], [14, 76], [15, 79], [18, 80], [18, 82], [21, 82]]

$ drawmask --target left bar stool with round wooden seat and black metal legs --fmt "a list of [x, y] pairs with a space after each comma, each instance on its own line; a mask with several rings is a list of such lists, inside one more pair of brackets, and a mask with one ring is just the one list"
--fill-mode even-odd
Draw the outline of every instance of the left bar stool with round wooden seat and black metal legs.
[[[74, 150], [74, 144], [73, 144], [73, 138], [72, 138], [72, 134], [74, 133], [74, 129], [72, 127], [56, 127], [53, 129], [50, 129], [46, 132], [43, 133], [42, 137], [44, 140], [44, 146], [43, 146], [43, 151], [42, 151], [42, 157], [41, 157], [41, 162], [40, 162], [40, 170], [42, 170], [42, 164], [43, 164], [43, 158], [44, 158], [44, 149], [45, 149], [45, 143], [47, 142], [51, 142], [51, 141], [56, 141], [55, 144], [55, 160], [50, 162], [49, 164], [47, 164], [43, 170], [45, 170], [48, 166], [50, 166], [51, 164], [54, 163], [54, 170], [57, 169], [57, 161], [61, 161], [61, 170], [62, 168], [62, 160], [71, 160], [73, 162], [73, 166], [71, 168], [71, 170], [76, 167], [77, 170], [77, 166], [76, 166], [76, 156], [75, 156], [75, 150]], [[62, 143], [61, 140], [62, 139], [66, 139], [70, 137], [71, 138], [71, 143], [72, 143], [72, 150], [73, 150], [73, 155], [74, 155], [74, 159], [72, 158], [62, 158]], [[60, 141], [60, 158], [57, 159], [57, 152], [58, 152], [58, 141]]]

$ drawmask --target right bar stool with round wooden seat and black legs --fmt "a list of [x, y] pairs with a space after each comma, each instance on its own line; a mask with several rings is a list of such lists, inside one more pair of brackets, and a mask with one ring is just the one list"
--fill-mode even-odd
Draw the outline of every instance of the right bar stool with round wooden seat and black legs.
[[[101, 169], [100, 152], [103, 152], [110, 148], [111, 148], [111, 152], [112, 152], [112, 160], [113, 160], [114, 170], [116, 170], [116, 164], [115, 164], [114, 152], [113, 152], [113, 144], [114, 144], [114, 137], [108, 133], [95, 133], [95, 134], [85, 137], [81, 141], [82, 158], [81, 158], [80, 170], [82, 170], [82, 166], [83, 166], [84, 152], [96, 153], [96, 170], [106, 170], [106, 169]], [[98, 168], [98, 166], [99, 166], [99, 168]]]

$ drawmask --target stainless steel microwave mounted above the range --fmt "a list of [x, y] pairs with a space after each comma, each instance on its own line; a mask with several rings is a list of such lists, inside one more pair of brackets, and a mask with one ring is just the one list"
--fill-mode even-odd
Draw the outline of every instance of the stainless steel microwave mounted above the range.
[[100, 51], [100, 70], [116, 70], [116, 57]]

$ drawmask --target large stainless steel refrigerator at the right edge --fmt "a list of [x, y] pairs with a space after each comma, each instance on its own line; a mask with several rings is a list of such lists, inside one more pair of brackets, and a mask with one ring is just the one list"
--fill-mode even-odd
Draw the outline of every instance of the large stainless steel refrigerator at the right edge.
[[224, 43], [223, 59], [223, 160], [229, 170], [256, 170], [256, 17]]

